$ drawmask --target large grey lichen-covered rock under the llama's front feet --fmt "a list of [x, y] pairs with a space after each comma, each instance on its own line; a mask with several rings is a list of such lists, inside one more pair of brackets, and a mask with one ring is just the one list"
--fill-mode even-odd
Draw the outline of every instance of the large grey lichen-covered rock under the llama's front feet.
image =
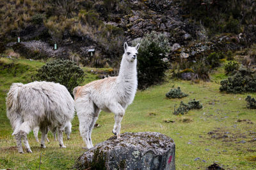
[[121, 134], [83, 153], [77, 169], [175, 169], [175, 143], [159, 132]]

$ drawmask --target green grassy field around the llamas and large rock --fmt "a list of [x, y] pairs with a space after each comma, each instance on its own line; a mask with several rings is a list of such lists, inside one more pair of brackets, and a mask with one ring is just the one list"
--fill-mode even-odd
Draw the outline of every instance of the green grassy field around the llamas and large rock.
[[[0, 59], [0, 169], [38, 169], [41, 153], [41, 169], [70, 169], [85, 151], [82, 149], [84, 143], [79, 136], [79, 123], [75, 117], [71, 139], [64, 140], [67, 148], [60, 149], [51, 133], [47, 148], [40, 148], [30, 133], [28, 138], [33, 153], [17, 152], [10, 122], [6, 118], [4, 97], [13, 82], [31, 81], [31, 76], [43, 64], [29, 60]], [[88, 78], [83, 83], [97, 78], [97, 75], [90, 73], [86, 76]], [[138, 91], [134, 102], [126, 110], [121, 131], [154, 131], [173, 138], [177, 169], [205, 169], [214, 162], [225, 169], [256, 169], [256, 141], [253, 141], [256, 138], [256, 111], [248, 110], [244, 101], [247, 95], [256, 95], [220, 93], [220, 80], [223, 78], [226, 77], [220, 67], [211, 75], [211, 82], [192, 84], [190, 81], [169, 80], [163, 85]], [[165, 94], [173, 85], [180, 87], [189, 96], [166, 99]], [[187, 103], [192, 99], [199, 100], [204, 107], [191, 110], [186, 115], [173, 115], [180, 101]], [[174, 122], [165, 123], [164, 120]], [[94, 144], [113, 135], [113, 113], [101, 112], [97, 124], [100, 126], [92, 134]], [[198, 157], [200, 159], [195, 160]]]

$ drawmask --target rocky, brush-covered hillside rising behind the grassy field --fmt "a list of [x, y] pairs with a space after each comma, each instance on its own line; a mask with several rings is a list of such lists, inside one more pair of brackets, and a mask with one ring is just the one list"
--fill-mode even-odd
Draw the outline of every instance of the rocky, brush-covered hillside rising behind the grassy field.
[[[115, 65], [115, 60], [122, 55], [124, 41], [131, 42], [152, 31], [163, 32], [168, 37], [172, 47], [168, 56], [170, 60], [180, 57], [193, 60], [202, 53], [237, 50], [256, 41], [255, 23], [248, 24], [243, 20], [240, 23], [237, 20], [237, 24], [232, 23], [242, 25], [243, 29], [234, 31], [228, 29], [228, 23], [223, 22], [226, 29], [215, 30], [214, 33], [211, 29], [213, 21], [207, 25], [204, 18], [204, 22], [201, 22], [202, 16], [196, 15], [195, 8], [198, 7], [203, 14], [205, 11], [209, 13], [209, 6], [215, 9], [222, 1], [212, 1], [213, 4], [208, 1], [189, 2], [11, 0], [6, 3], [0, 0], [0, 50], [3, 52], [12, 47], [15, 52], [28, 58], [60, 57], [79, 60], [84, 65], [91, 62]], [[246, 1], [243, 5], [255, 6], [255, 2]], [[213, 18], [209, 16], [209, 19]], [[21, 43], [14, 43], [18, 36]], [[53, 50], [54, 43], [58, 50]], [[93, 58], [88, 52], [90, 48], [95, 48]]]

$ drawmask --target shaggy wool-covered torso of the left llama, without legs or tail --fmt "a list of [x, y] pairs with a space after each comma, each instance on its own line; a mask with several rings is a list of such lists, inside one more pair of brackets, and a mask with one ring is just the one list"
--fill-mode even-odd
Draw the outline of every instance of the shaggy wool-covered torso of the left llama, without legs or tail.
[[[12, 88], [11, 88], [12, 89]], [[35, 81], [19, 87], [19, 107], [15, 110], [24, 121], [65, 124], [74, 117], [74, 100], [68, 90], [58, 83]]]

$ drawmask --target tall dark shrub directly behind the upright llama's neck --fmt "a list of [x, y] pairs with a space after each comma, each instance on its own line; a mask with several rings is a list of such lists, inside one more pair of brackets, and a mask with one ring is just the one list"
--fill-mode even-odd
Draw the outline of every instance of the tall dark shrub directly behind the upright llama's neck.
[[168, 52], [168, 39], [164, 34], [152, 32], [141, 39], [138, 52], [138, 89], [164, 80], [164, 71], [168, 69], [165, 53]]

